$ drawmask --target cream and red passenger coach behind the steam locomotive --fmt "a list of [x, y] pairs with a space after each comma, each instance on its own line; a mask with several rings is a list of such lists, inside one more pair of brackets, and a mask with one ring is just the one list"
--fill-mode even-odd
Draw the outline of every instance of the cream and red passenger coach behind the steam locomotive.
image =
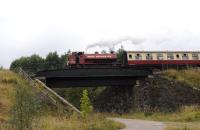
[[128, 65], [200, 65], [199, 51], [128, 51]]

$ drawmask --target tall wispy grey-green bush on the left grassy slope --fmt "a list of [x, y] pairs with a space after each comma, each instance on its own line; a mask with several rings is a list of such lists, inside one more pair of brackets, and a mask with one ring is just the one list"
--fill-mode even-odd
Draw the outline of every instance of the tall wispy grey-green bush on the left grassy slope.
[[[11, 108], [11, 123], [16, 130], [30, 130], [35, 117], [40, 112], [40, 103], [31, 88], [18, 85], [14, 104]], [[35, 123], [37, 124], [37, 123]]]

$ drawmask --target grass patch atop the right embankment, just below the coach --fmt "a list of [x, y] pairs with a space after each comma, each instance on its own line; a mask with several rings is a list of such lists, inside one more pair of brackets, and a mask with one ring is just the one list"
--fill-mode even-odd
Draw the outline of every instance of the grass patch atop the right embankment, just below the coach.
[[164, 74], [170, 80], [183, 82], [200, 89], [200, 69], [167, 70]]

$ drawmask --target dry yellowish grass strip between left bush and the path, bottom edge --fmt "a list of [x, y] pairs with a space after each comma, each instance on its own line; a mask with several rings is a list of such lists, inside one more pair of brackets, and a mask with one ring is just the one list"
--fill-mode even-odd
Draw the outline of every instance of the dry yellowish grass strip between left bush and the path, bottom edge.
[[106, 120], [101, 114], [91, 114], [83, 118], [72, 115], [70, 118], [48, 116], [40, 119], [38, 130], [117, 130], [124, 125]]

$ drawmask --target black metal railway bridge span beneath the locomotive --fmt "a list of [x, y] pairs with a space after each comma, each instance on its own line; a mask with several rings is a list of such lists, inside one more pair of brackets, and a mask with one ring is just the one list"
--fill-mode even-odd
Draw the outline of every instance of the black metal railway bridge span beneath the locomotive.
[[68, 68], [40, 71], [36, 74], [48, 87], [133, 86], [136, 80], [152, 74], [151, 69], [139, 68]]

